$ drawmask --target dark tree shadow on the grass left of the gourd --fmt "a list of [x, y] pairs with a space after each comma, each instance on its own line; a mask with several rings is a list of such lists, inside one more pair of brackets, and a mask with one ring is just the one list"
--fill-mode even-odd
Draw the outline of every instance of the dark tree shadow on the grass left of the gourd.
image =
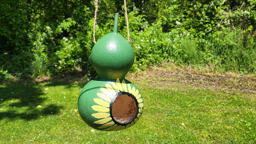
[[[44, 105], [47, 98], [40, 86], [35, 84], [8, 84], [0, 86], [0, 120], [17, 118], [32, 120], [40, 116], [54, 115], [62, 106], [55, 104]], [[37, 106], [43, 106], [38, 108]]]

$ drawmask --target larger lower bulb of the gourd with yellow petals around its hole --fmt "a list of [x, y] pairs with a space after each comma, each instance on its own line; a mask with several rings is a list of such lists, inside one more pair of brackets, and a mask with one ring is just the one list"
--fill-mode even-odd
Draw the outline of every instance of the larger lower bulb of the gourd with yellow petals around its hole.
[[96, 78], [85, 85], [78, 98], [81, 118], [101, 131], [131, 127], [139, 120], [143, 108], [140, 91], [126, 79], [104, 81]]

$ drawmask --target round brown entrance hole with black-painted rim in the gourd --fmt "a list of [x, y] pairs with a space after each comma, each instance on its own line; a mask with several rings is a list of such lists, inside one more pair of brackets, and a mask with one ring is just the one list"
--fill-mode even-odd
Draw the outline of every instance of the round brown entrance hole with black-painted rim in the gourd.
[[114, 123], [126, 125], [138, 115], [138, 102], [128, 92], [118, 92], [110, 103], [110, 115]]

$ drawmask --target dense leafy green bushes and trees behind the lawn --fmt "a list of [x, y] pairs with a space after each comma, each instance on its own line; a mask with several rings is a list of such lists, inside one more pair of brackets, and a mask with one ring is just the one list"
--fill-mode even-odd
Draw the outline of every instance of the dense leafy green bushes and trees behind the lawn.
[[[96, 40], [112, 32], [123, 1], [101, 0]], [[256, 73], [256, 1], [128, 2], [133, 71], [173, 62], [214, 71]], [[90, 64], [93, 1], [17, 0], [0, 3], [0, 79], [69, 75]], [[127, 36], [124, 15], [119, 33]]]

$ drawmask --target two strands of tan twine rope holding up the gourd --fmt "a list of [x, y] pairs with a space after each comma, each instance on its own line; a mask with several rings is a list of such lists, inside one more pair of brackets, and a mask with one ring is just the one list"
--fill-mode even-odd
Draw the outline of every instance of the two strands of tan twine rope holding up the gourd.
[[[93, 22], [93, 42], [96, 44], [95, 41], [95, 25], [97, 21], [97, 12], [98, 12], [98, 0], [94, 0], [94, 5], [95, 5], [95, 12], [94, 12], [94, 22]], [[127, 26], [127, 41], [130, 43], [132, 39], [130, 39], [130, 33], [129, 33], [129, 24], [128, 24], [128, 16], [127, 16], [127, 9], [126, 9], [126, 0], [124, 0], [124, 9], [125, 9], [125, 20], [126, 20], [126, 26]]]

